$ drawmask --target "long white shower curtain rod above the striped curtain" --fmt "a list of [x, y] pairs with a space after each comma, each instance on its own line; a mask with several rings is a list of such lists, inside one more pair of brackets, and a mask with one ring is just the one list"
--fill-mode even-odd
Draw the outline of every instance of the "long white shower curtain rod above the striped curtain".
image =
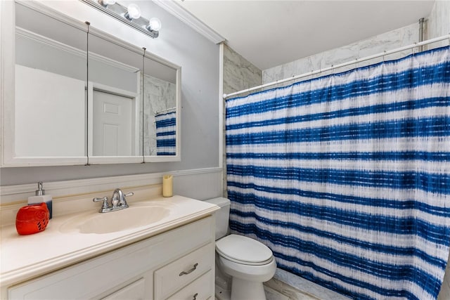
[[332, 65], [331, 67], [326, 67], [324, 69], [314, 70], [314, 71], [303, 73], [303, 74], [296, 75], [296, 76], [293, 76], [293, 77], [276, 80], [276, 81], [270, 82], [268, 84], [262, 84], [260, 86], [254, 86], [254, 87], [252, 87], [250, 89], [245, 89], [245, 90], [242, 90], [242, 91], [236, 91], [234, 93], [228, 93], [228, 94], [224, 93], [224, 99], [225, 98], [229, 98], [231, 96], [239, 95], [240, 93], [247, 93], [249, 91], [255, 91], [257, 89], [262, 89], [262, 88], [265, 88], [267, 86], [273, 86], [274, 84], [281, 84], [281, 83], [286, 82], [286, 81], [300, 79], [302, 77], [307, 77], [307, 76], [310, 76], [310, 75], [319, 74], [321, 72], [326, 72], [326, 71], [329, 71], [329, 70], [337, 69], [338, 67], [345, 67], [346, 65], [352, 65], [354, 63], [359, 63], [359, 62], [362, 62], [362, 61], [371, 60], [373, 58], [379, 58], [381, 56], [387, 56], [387, 55], [390, 55], [392, 53], [397, 53], [397, 52], [408, 50], [408, 49], [411, 49], [411, 48], [416, 48], [418, 46], [432, 44], [432, 43], [435, 43], [437, 41], [443, 41], [444, 39], [449, 39], [449, 41], [450, 41], [450, 34], [443, 35], [442, 37], [436, 37], [434, 39], [428, 39], [426, 41], [420, 41], [418, 43], [414, 43], [414, 44], [411, 44], [409, 46], [403, 46], [403, 47], [395, 48], [395, 49], [390, 50], [390, 51], [384, 51], [382, 53], [374, 54], [372, 56], [366, 56], [364, 58], [355, 58], [354, 60], [349, 61], [347, 63], [340, 63], [339, 65]]

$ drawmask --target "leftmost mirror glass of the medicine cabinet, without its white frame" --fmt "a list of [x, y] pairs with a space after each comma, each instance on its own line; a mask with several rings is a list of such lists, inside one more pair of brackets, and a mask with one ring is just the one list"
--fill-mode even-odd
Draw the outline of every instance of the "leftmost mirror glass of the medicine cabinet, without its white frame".
[[15, 5], [15, 155], [86, 156], [86, 32]]

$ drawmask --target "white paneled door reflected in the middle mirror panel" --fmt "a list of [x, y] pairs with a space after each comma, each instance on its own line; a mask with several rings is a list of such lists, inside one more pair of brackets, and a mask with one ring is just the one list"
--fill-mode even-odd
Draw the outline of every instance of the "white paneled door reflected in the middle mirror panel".
[[133, 99], [97, 90], [93, 99], [93, 155], [132, 155]]

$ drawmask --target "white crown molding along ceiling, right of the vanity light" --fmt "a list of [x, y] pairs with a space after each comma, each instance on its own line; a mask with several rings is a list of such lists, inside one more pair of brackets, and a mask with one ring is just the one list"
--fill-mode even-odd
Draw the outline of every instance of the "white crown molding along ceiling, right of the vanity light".
[[153, 2], [155, 4], [158, 4], [158, 6], [164, 8], [165, 11], [172, 13], [172, 15], [174, 15], [176, 18], [179, 18], [179, 20], [191, 26], [195, 31], [202, 34], [214, 44], [219, 44], [222, 41], [225, 41], [224, 37], [205, 25], [205, 23], [203, 23], [202, 21], [198, 20], [198, 18], [195, 18], [192, 13], [189, 13], [179, 4], [176, 4], [175, 1], [153, 0]]

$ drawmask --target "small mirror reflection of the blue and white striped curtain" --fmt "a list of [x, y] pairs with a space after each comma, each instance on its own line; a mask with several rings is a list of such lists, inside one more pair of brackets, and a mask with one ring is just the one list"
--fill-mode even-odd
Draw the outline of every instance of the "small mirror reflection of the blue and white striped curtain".
[[176, 112], [155, 115], [156, 155], [176, 155]]

